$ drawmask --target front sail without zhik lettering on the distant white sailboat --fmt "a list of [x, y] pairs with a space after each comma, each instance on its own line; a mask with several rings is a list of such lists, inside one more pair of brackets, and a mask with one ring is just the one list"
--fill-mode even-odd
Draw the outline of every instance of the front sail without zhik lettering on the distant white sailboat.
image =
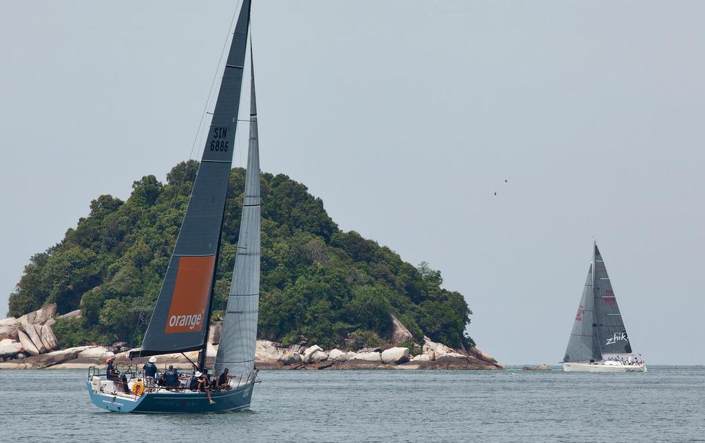
[[593, 292], [593, 273], [592, 264], [590, 264], [563, 361], [600, 361], [602, 359], [594, 327]]

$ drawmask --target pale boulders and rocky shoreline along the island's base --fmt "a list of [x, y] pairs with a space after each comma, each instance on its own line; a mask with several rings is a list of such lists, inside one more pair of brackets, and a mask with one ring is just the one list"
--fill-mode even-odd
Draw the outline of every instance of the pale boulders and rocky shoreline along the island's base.
[[[65, 314], [80, 316], [80, 311]], [[8, 369], [87, 369], [104, 366], [106, 358], [115, 357], [116, 363], [142, 366], [147, 358], [128, 358], [124, 342], [112, 346], [83, 346], [59, 349], [51, 326], [56, 317], [56, 305], [51, 304], [20, 318], [0, 320], [0, 370]], [[394, 319], [396, 320], [396, 318]], [[398, 320], [396, 320], [396, 323]], [[395, 326], [397, 326], [395, 324]], [[394, 338], [410, 338], [403, 325], [395, 328]], [[408, 335], [408, 336], [407, 336]], [[220, 328], [214, 325], [209, 335], [207, 362], [212, 364], [219, 342]], [[408, 342], [408, 340], [404, 340]], [[157, 356], [157, 366], [173, 364], [176, 368], [191, 369], [197, 352]], [[320, 369], [444, 369], [495, 370], [504, 366], [482, 349], [471, 347], [453, 349], [424, 337], [424, 344], [399, 347], [365, 348], [357, 351], [321, 349], [316, 344], [301, 342], [290, 347], [269, 340], [257, 340], [255, 367], [279, 370]]]

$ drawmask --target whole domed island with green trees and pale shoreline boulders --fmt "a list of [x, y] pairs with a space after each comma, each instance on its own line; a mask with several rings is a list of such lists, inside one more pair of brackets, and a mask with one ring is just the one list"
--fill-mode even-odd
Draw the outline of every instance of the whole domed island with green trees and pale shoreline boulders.
[[[97, 197], [61, 242], [30, 258], [0, 320], [0, 368], [85, 367], [140, 346], [197, 169], [179, 163], [166, 184], [142, 177], [127, 201]], [[467, 334], [472, 311], [442, 286], [439, 270], [343, 232], [321, 199], [286, 175], [260, 177], [259, 368], [502, 367]], [[231, 283], [244, 182], [245, 170], [234, 168], [209, 354]], [[189, 366], [180, 354], [160, 361]]]

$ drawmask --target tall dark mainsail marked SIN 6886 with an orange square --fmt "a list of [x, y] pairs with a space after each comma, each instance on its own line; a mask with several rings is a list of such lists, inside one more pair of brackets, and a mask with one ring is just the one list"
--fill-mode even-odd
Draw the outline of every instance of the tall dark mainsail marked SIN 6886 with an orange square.
[[139, 351], [130, 356], [202, 349], [238, 123], [250, 0], [243, 0], [198, 174], [157, 305]]

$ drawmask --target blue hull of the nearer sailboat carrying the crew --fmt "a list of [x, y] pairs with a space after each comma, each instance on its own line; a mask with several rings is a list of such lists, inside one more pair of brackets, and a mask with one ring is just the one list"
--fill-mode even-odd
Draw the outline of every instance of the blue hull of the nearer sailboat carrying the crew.
[[214, 404], [210, 404], [204, 392], [149, 392], [141, 396], [113, 395], [94, 392], [86, 382], [88, 394], [95, 406], [114, 412], [135, 413], [205, 413], [240, 411], [250, 407], [254, 383], [236, 387], [230, 391], [213, 392]]

